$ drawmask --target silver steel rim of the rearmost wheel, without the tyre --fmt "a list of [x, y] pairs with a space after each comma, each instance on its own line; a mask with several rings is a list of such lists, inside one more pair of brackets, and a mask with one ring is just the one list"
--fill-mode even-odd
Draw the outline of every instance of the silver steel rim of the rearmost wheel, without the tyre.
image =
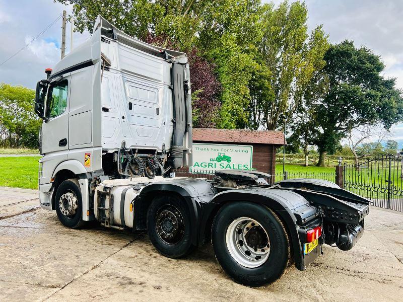
[[230, 223], [226, 243], [232, 258], [244, 267], [258, 267], [270, 254], [267, 232], [258, 221], [249, 217], [239, 217]]

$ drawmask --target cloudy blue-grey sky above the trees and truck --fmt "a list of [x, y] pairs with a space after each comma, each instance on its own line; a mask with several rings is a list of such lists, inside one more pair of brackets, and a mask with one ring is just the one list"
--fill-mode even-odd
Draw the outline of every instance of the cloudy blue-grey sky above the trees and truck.
[[[270, 2], [270, 1], [263, 1]], [[273, 1], [275, 4], [281, 1]], [[403, 0], [306, 0], [310, 29], [323, 24], [332, 43], [353, 40], [379, 54], [385, 77], [397, 79], [403, 89]], [[52, 0], [0, 0], [0, 64], [71, 7]], [[89, 33], [73, 35], [73, 46]], [[39, 39], [0, 66], [0, 82], [35, 88], [44, 70], [60, 59], [61, 20]], [[70, 51], [70, 24], [66, 28], [66, 53]], [[403, 123], [393, 126], [391, 138], [403, 144]]]

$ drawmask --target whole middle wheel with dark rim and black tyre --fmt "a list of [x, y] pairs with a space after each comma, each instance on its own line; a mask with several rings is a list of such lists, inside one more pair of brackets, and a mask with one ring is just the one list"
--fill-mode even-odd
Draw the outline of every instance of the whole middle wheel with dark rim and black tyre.
[[147, 212], [147, 231], [157, 251], [169, 258], [180, 258], [190, 253], [190, 215], [175, 196], [154, 198]]

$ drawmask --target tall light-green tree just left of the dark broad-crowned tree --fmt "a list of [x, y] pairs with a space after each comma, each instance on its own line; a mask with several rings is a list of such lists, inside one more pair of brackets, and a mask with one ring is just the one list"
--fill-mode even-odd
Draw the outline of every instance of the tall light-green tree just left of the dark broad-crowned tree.
[[321, 26], [308, 34], [307, 15], [305, 4], [299, 1], [291, 5], [284, 1], [275, 10], [269, 6], [262, 15], [258, 54], [261, 69], [267, 72], [260, 73], [266, 83], [262, 80], [258, 83], [270, 87], [272, 92], [252, 99], [251, 108], [261, 110], [262, 124], [267, 130], [278, 127], [280, 114], [287, 112], [288, 119], [292, 117], [310, 80], [325, 65], [327, 35]]

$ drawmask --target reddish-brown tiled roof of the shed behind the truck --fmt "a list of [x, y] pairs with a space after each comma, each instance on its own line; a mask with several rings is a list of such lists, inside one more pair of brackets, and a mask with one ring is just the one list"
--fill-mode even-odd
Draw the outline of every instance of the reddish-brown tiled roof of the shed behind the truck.
[[[193, 141], [284, 144], [282, 131], [193, 128]], [[286, 142], [287, 143], [287, 142]]]

